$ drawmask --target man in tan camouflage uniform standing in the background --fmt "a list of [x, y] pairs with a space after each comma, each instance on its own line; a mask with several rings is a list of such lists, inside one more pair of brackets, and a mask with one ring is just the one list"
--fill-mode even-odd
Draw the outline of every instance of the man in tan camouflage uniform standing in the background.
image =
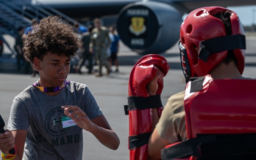
[[102, 76], [102, 66], [106, 67], [106, 75], [109, 75], [110, 67], [107, 50], [111, 45], [111, 40], [108, 35], [108, 28], [101, 25], [101, 20], [99, 18], [95, 18], [93, 22], [95, 28], [91, 33], [89, 51], [93, 53], [93, 47], [96, 51], [96, 59], [99, 66], [99, 73], [97, 73], [96, 76]]

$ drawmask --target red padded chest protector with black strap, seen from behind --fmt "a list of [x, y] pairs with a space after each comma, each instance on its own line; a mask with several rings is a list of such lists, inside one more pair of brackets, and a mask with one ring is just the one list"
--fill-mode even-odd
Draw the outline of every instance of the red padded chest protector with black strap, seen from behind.
[[189, 140], [168, 145], [162, 160], [255, 159], [255, 90], [253, 79], [207, 75], [189, 81], [184, 97]]

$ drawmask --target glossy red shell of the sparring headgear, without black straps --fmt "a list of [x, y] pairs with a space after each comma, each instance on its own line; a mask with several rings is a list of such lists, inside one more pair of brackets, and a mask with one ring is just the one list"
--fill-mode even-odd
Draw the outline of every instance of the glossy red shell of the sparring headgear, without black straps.
[[[212, 70], [227, 57], [228, 49], [224, 49], [221, 52], [210, 54], [207, 56], [207, 60], [199, 58], [202, 41], [209, 40], [212, 38], [217, 38], [221, 36], [227, 36], [227, 32], [224, 26], [224, 23], [221, 19], [214, 17], [214, 15], [230, 11], [229, 9], [223, 7], [203, 7], [195, 9], [190, 12], [186, 17], [184, 22], [180, 26], [180, 45], [183, 46], [183, 49], [186, 51], [187, 61], [189, 63], [182, 64], [185, 68], [185, 72], [188, 72], [189, 77], [198, 77], [205, 76], [212, 72]], [[231, 21], [231, 35], [242, 35], [244, 36], [244, 29], [239, 20], [238, 15], [235, 12], [230, 11], [230, 21]], [[231, 38], [232, 39], [232, 38]], [[237, 67], [239, 72], [242, 74], [244, 70], [244, 59], [245, 59], [245, 37], [244, 47], [230, 49], [233, 50], [234, 55], [237, 61]], [[233, 43], [233, 42], [232, 42]], [[218, 48], [221, 43], [211, 46], [212, 48]], [[222, 44], [222, 46], [225, 46]], [[204, 48], [204, 46], [203, 46]], [[243, 48], [243, 49], [241, 49]], [[182, 52], [182, 49], [181, 49]], [[186, 59], [182, 57], [182, 60], [185, 62]], [[204, 55], [203, 55], [204, 56]], [[189, 66], [188, 66], [189, 65]], [[186, 70], [189, 68], [190, 70]], [[186, 76], [186, 74], [185, 74]]]

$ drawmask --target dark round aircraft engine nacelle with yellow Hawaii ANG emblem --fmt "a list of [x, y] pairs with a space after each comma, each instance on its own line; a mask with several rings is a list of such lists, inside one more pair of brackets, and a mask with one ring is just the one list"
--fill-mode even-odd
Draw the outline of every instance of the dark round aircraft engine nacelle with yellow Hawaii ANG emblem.
[[160, 2], [136, 2], [125, 6], [117, 19], [122, 42], [143, 55], [160, 54], [180, 38], [182, 16], [173, 6]]

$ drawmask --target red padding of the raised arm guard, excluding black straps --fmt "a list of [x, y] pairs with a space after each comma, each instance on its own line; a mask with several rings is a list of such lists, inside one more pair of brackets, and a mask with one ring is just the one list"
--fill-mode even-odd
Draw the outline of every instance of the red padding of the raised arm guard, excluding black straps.
[[[169, 64], [161, 55], [145, 55], [133, 67], [130, 74], [128, 95], [129, 97], [149, 97], [146, 85], [154, 79], [157, 74], [157, 67], [163, 71], [166, 76], [169, 71]], [[157, 81], [157, 95], [163, 90], [163, 79]], [[159, 116], [163, 106], [156, 106]], [[129, 138], [137, 135], [150, 135], [152, 132], [152, 109], [134, 109], [129, 110]], [[130, 149], [130, 160], [147, 160], [148, 143], [140, 147]]]

